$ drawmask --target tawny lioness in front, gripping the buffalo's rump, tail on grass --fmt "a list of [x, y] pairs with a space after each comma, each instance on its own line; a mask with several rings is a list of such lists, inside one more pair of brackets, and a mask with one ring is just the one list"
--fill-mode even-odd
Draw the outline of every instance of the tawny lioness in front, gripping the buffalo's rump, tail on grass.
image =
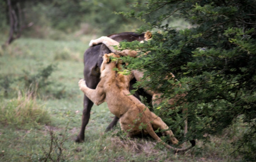
[[119, 57], [114, 53], [105, 54], [103, 56], [101, 80], [96, 89], [88, 88], [85, 81], [81, 79], [79, 81], [80, 90], [96, 105], [106, 101], [110, 112], [120, 118], [121, 129], [127, 132], [128, 136], [132, 137], [133, 135], [141, 133], [149, 134], [155, 140], [176, 152], [186, 151], [193, 147], [192, 145], [185, 149], [176, 149], [165, 144], [158, 135], [156, 135], [154, 130], [164, 130], [162, 133], [169, 135], [173, 144], [178, 144], [178, 140], [174, 137], [172, 131], [168, 130], [169, 127], [161, 118], [151, 112], [136, 97], [129, 95], [129, 81], [132, 79], [133, 75], [122, 75], [114, 71], [113, 68], [121, 68], [121, 63], [118, 61], [111, 62], [111, 56], [112, 58]]

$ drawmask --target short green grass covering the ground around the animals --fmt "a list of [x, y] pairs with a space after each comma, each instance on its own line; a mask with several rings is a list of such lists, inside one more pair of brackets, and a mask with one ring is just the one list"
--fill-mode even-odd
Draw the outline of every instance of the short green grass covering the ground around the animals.
[[[212, 143], [203, 144], [202, 141], [197, 141], [197, 146], [184, 155], [175, 155], [150, 138], [129, 139], [122, 134], [119, 126], [114, 131], [104, 133], [113, 118], [106, 103], [92, 108], [85, 142], [75, 143], [74, 139], [81, 126], [83, 99], [78, 81], [83, 77], [83, 53], [90, 39], [91, 36], [83, 36], [81, 40], [76, 41], [20, 38], [0, 50], [0, 76], [8, 76], [12, 81], [9, 87], [6, 86], [9, 94], [7, 98], [3, 99], [5, 89], [0, 89], [0, 161], [240, 160], [239, 155], [230, 155], [234, 151], [231, 145], [234, 136], [230, 133], [234, 130], [231, 128], [223, 137], [211, 137]], [[3, 41], [0, 40], [0, 43]], [[47, 86], [48, 90], [59, 92], [54, 89], [59, 85], [61, 92], [65, 94], [64, 97], [57, 99], [50, 96], [51, 92], [45, 92], [38, 94], [36, 98], [29, 98], [26, 89], [23, 89], [23, 96], [18, 97], [22, 81], [17, 79], [24, 76], [23, 71], [29, 71], [31, 75], [37, 74], [50, 64], [57, 65], [57, 69], [48, 78], [52, 82]], [[26, 102], [28, 104], [24, 104]], [[16, 112], [22, 105], [26, 105], [24, 107], [29, 110]], [[39, 114], [35, 109], [39, 110]], [[33, 117], [26, 113], [28, 111], [37, 112], [32, 116], [43, 115], [44, 118], [32, 119]], [[22, 115], [24, 119], [21, 120]], [[58, 152], [59, 147], [62, 149], [61, 154]]]

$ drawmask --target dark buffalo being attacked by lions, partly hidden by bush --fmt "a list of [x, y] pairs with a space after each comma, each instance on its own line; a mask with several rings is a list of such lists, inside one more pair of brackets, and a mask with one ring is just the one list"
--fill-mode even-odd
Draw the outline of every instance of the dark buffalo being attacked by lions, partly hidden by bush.
[[[113, 40], [118, 42], [126, 40], [126, 41], [142, 41], [144, 40], [144, 34], [136, 34], [132, 32], [124, 32], [119, 34], [109, 35]], [[89, 88], [95, 89], [98, 82], [100, 82], [100, 66], [102, 63], [102, 56], [105, 53], [111, 53], [111, 51], [103, 44], [95, 45], [93, 47], [89, 47], [84, 53], [84, 79], [86, 81], [86, 85]], [[132, 89], [132, 85], [135, 83], [135, 79], [130, 82], [130, 89]], [[139, 99], [139, 95], [145, 96], [148, 99], [148, 103], [151, 102], [151, 96], [146, 94], [143, 89], [139, 89], [134, 96]], [[90, 119], [90, 111], [93, 103], [89, 98], [84, 96], [84, 109], [82, 112], [82, 126], [80, 133], [76, 137], [76, 142], [84, 141], [85, 127]], [[113, 121], [108, 125], [106, 131], [112, 129], [118, 121], [118, 117], [114, 117]]]

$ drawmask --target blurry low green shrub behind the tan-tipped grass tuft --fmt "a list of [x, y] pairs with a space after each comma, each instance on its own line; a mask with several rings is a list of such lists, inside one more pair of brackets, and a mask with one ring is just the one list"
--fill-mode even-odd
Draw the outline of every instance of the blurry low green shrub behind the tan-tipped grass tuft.
[[[65, 86], [60, 83], [54, 83], [49, 79], [56, 65], [50, 64], [45, 68], [39, 69], [36, 74], [23, 70], [22, 76], [15, 78], [11, 75], [0, 75], [0, 92], [5, 98], [10, 98], [18, 89], [27, 91], [32, 97], [49, 96], [57, 99], [66, 97]], [[14, 85], [18, 85], [14, 86]], [[12, 94], [12, 95], [10, 95]]]

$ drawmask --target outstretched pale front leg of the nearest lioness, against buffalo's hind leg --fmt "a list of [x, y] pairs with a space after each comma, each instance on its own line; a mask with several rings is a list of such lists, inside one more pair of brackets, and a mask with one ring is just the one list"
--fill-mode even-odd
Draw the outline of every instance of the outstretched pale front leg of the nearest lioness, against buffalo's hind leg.
[[105, 101], [105, 93], [103, 92], [103, 87], [98, 83], [96, 89], [91, 89], [86, 86], [85, 80], [81, 79], [78, 82], [79, 88], [84, 94], [95, 104], [100, 105]]

